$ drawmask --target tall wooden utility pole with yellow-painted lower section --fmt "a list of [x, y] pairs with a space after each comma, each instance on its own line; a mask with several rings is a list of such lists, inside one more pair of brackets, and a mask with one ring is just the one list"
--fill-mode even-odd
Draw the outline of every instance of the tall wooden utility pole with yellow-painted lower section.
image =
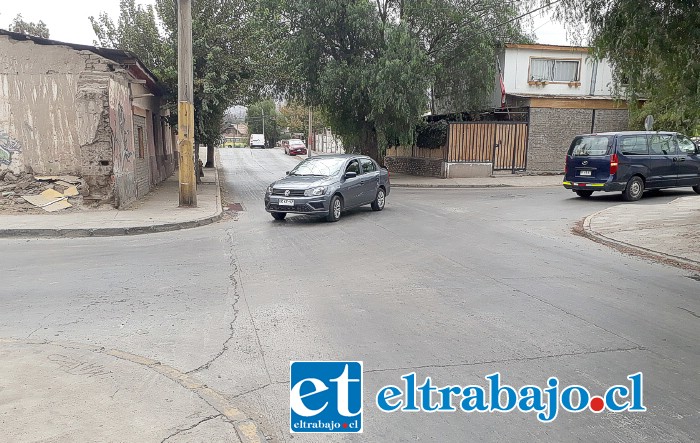
[[194, 104], [192, 73], [192, 0], [177, 8], [177, 145], [180, 155], [180, 206], [197, 207], [194, 173]]

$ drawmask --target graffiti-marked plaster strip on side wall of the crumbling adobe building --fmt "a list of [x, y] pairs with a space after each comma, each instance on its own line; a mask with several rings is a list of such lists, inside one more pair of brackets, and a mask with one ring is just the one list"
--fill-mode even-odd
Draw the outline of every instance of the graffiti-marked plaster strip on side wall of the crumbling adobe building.
[[109, 82], [109, 125], [112, 129], [114, 173], [133, 171], [134, 138], [129, 88]]

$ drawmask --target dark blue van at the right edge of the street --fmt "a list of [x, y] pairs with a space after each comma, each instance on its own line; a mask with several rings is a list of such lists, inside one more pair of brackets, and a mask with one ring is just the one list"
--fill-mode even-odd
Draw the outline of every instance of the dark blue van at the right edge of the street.
[[627, 201], [649, 189], [688, 186], [700, 194], [700, 147], [677, 132], [579, 135], [566, 155], [563, 185], [584, 198], [621, 191]]

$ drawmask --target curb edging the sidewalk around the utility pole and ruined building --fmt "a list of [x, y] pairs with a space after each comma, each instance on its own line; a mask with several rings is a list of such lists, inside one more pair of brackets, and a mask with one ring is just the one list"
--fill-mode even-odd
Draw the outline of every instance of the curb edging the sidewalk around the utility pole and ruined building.
[[77, 237], [117, 237], [124, 235], [155, 234], [158, 232], [179, 231], [181, 229], [198, 228], [210, 225], [223, 217], [221, 207], [221, 182], [219, 170], [214, 168], [216, 175], [216, 213], [209, 217], [197, 218], [182, 222], [161, 223], [148, 226], [127, 226], [120, 228], [37, 228], [37, 229], [0, 229], [0, 238], [77, 238]]

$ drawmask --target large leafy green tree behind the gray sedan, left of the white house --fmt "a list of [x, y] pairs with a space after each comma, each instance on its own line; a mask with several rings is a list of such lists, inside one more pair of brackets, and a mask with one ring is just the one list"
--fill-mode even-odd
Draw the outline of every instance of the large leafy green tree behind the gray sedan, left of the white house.
[[297, 73], [286, 92], [321, 108], [346, 146], [375, 158], [413, 142], [429, 91], [453, 107], [484, 103], [495, 49], [523, 38], [513, 2], [270, 1], [280, 5], [275, 26], [287, 28]]

